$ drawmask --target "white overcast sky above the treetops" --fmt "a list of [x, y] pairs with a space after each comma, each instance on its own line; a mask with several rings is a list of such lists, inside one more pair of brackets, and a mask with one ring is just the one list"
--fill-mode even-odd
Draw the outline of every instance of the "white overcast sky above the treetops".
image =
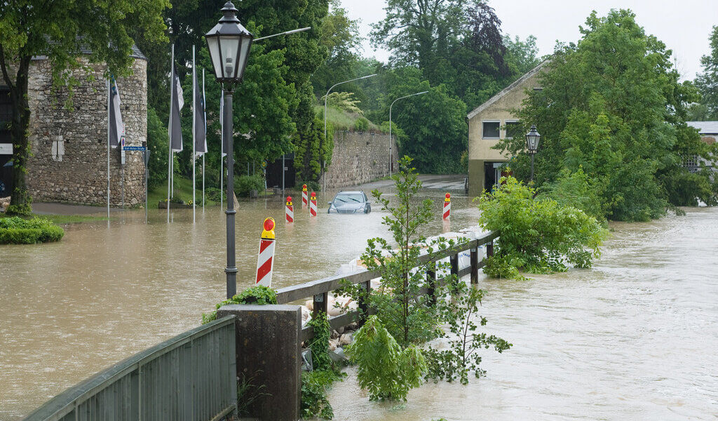
[[[610, 9], [631, 9], [648, 34], [673, 50], [681, 76], [691, 80], [701, 71], [701, 55], [708, 54], [708, 37], [718, 24], [718, 0], [490, 0], [489, 4], [501, 19], [503, 33], [521, 39], [535, 35], [540, 55], [553, 52], [556, 40], [578, 40], [579, 24], [592, 10], [603, 16]], [[385, 5], [385, 0], [342, 0], [350, 18], [361, 19], [360, 32], [367, 38], [370, 24], [386, 16]], [[386, 62], [389, 52], [373, 50], [366, 39], [363, 55]]]

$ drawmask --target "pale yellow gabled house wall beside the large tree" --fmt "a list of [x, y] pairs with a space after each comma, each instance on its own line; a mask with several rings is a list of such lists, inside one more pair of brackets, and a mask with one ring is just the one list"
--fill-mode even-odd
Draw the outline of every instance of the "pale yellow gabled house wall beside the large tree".
[[[526, 90], [538, 86], [538, 74], [536, 72], [530, 77], [514, 86], [510, 91], [498, 98], [495, 103], [486, 107], [480, 113], [469, 119], [469, 194], [480, 195], [484, 189], [484, 163], [505, 162], [510, 158], [503, 152], [492, 149], [500, 139], [505, 139], [506, 121], [517, 121], [517, 117], [511, 112], [513, 109], [521, 108], [521, 103], [526, 98]], [[483, 139], [482, 121], [499, 121], [499, 139]]]

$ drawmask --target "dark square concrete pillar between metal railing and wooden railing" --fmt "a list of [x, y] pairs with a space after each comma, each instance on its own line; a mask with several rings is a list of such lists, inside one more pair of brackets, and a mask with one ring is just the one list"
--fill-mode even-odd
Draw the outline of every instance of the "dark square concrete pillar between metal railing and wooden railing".
[[237, 376], [260, 395], [249, 415], [297, 421], [302, 389], [302, 310], [299, 305], [225, 305], [217, 317], [236, 315]]

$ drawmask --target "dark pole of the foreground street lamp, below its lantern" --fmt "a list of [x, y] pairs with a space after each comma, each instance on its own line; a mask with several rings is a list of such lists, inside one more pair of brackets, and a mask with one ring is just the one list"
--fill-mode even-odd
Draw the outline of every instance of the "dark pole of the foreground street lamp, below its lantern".
[[224, 139], [227, 143], [227, 298], [237, 293], [237, 264], [235, 259], [234, 215], [234, 139], [232, 137], [232, 85], [224, 89]]

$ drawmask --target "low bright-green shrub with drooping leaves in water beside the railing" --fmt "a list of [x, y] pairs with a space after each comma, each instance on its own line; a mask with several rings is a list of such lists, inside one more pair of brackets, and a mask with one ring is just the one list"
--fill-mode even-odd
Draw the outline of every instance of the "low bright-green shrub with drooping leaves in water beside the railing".
[[402, 349], [376, 315], [356, 331], [346, 351], [357, 364], [359, 385], [368, 390], [371, 400], [406, 401], [409, 390], [421, 386], [424, 355], [414, 346]]

